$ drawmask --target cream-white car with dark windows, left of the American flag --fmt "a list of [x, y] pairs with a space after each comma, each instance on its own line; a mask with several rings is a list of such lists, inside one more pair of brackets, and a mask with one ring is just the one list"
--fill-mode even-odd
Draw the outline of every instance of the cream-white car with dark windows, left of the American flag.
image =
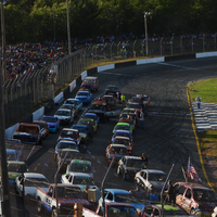
[[[161, 194], [162, 188], [166, 181], [166, 174], [162, 170], [156, 169], [142, 169], [135, 176], [135, 182], [140, 186], [146, 192], [156, 192]], [[168, 184], [166, 186], [166, 189]], [[165, 190], [166, 190], [165, 189]]]

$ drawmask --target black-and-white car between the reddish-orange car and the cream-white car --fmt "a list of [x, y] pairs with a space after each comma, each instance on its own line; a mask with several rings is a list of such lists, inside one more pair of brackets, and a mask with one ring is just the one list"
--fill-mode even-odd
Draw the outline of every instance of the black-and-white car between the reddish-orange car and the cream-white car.
[[144, 168], [146, 168], [145, 162], [139, 156], [124, 156], [118, 162], [117, 175], [122, 176], [124, 181], [133, 180], [135, 175]]

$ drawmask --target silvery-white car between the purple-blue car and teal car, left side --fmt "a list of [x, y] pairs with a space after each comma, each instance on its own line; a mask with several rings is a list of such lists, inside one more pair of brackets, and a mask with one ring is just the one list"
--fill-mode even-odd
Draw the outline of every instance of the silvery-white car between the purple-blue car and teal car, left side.
[[59, 108], [54, 117], [58, 117], [63, 125], [71, 125], [74, 120], [74, 111], [72, 110], [66, 110], [66, 108]]

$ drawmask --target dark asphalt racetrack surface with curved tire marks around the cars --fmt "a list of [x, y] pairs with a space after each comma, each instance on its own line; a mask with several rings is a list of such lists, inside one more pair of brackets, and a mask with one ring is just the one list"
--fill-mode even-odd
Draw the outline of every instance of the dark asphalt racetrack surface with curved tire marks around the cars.
[[[119, 90], [130, 99], [137, 93], [151, 97], [151, 104], [145, 116], [145, 128], [137, 128], [133, 135], [133, 155], [140, 156], [145, 153], [149, 158], [149, 168], [161, 169], [165, 173], [173, 169], [170, 179], [173, 182], [183, 181], [181, 167], [187, 168], [188, 158], [195, 167], [203, 183], [207, 186], [204, 178], [201, 162], [197, 154], [197, 146], [192, 130], [190, 110], [187, 99], [187, 85], [196, 80], [217, 77], [216, 58], [184, 60], [168, 63], [146, 64], [126, 68], [116, 68], [97, 74], [100, 79], [99, 91], [93, 93], [93, 99], [103, 94], [106, 85], [116, 85]], [[75, 97], [77, 89], [72, 93]], [[118, 111], [124, 108], [117, 104]], [[54, 114], [58, 107], [49, 112]], [[74, 124], [78, 117], [74, 120]], [[106, 173], [104, 161], [105, 148], [108, 145], [112, 130], [118, 118], [113, 118], [106, 124], [101, 124], [93, 142], [89, 143], [84, 158], [92, 162], [94, 181], [100, 188]], [[56, 162], [54, 162], [54, 146], [56, 133], [50, 133], [43, 140], [42, 146], [26, 146], [23, 158], [27, 158], [30, 171], [46, 175], [50, 182], [54, 182]], [[61, 175], [58, 176], [60, 181]], [[112, 168], [104, 184], [105, 188], [132, 189], [133, 182], [123, 181]], [[12, 216], [46, 216], [39, 215], [35, 202], [27, 201], [24, 207], [21, 196], [11, 189]], [[25, 210], [25, 212], [24, 212]]]

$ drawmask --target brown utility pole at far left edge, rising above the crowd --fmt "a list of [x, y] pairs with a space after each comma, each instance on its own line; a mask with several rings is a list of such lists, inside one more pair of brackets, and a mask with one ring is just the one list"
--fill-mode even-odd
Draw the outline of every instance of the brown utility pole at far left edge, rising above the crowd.
[[3, 82], [7, 80], [7, 59], [5, 59], [5, 26], [4, 26], [4, 12], [3, 0], [1, 0], [1, 38], [2, 38], [2, 69], [3, 69]]

